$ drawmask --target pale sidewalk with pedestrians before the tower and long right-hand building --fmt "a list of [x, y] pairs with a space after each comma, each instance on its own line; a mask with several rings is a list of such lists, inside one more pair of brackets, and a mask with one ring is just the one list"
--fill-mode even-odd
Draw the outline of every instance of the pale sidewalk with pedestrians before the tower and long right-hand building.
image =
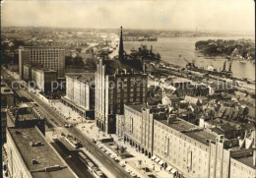
[[[103, 132], [98, 131], [98, 128], [96, 127], [95, 123], [80, 123], [77, 125], [77, 128], [84, 134], [86, 134], [88, 137], [98, 140], [103, 138]], [[133, 157], [130, 158], [124, 158], [121, 159], [120, 156], [118, 158], [120, 161], [126, 161], [127, 165], [125, 166], [125, 169], [130, 169], [132, 172], [135, 172], [140, 177], [148, 177], [148, 175], [154, 174], [158, 178], [172, 178], [172, 175], [169, 174], [167, 171], [164, 170], [164, 168], [160, 169], [160, 165], [157, 162], [154, 162], [146, 156], [145, 154], [138, 152], [136, 148], [132, 148], [128, 143], [124, 144], [123, 141], [118, 141], [117, 135], [105, 135], [104, 138], [112, 137], [114, 139], [114, 142], [119, 146], [123, 146], [126, 148], [126, 151], [133, 155]], [[108, 148], [104, 144], [101, 144], [103, 148], [107, 149], [111, 154], [117, 156], [117, 153], [112, 150], [111, 148]], [[139, 160], [142, 160], [142, 164], [139, 165]], [[142, 170], [142, 167], [148, 167], [151, 169], [150, 172], [145, 172]], [[155, 170], [153, 170], [155, 169]]]

